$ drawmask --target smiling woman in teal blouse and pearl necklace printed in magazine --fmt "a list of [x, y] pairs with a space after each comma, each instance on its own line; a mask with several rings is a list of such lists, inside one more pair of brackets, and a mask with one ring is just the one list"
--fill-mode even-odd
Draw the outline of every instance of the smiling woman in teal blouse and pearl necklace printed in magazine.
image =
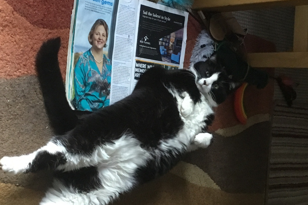
[[109, 105], [111, 84], [111, 60], [103, 53], [109, 28], [103, 19], [97, 19], [88, 35], [92, 47], [78, 59], [74, 69], [77, 110], [95, 111]]

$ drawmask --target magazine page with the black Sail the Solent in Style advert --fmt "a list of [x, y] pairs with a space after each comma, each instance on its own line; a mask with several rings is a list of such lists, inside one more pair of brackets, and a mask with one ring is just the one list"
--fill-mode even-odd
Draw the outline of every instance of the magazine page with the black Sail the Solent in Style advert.
[[142, 73], [155, 65], [183, 69], [187, 21], [188, 12], [140, 0], [132, 88]]

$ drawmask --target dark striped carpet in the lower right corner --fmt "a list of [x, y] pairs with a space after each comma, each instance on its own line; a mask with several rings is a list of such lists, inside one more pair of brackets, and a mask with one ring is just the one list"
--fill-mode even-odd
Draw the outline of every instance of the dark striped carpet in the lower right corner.
[[268, 181], [268, 205], [308, 205], [308, 105], [277, 104]]

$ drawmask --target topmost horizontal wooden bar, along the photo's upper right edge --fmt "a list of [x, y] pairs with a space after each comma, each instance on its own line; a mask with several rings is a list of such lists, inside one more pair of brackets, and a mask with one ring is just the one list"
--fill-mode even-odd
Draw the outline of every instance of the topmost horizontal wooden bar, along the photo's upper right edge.
[[308, 0], [194, 0], [192, 8], [196, 10], [225, 12], [302, 5], [308, 5]]

